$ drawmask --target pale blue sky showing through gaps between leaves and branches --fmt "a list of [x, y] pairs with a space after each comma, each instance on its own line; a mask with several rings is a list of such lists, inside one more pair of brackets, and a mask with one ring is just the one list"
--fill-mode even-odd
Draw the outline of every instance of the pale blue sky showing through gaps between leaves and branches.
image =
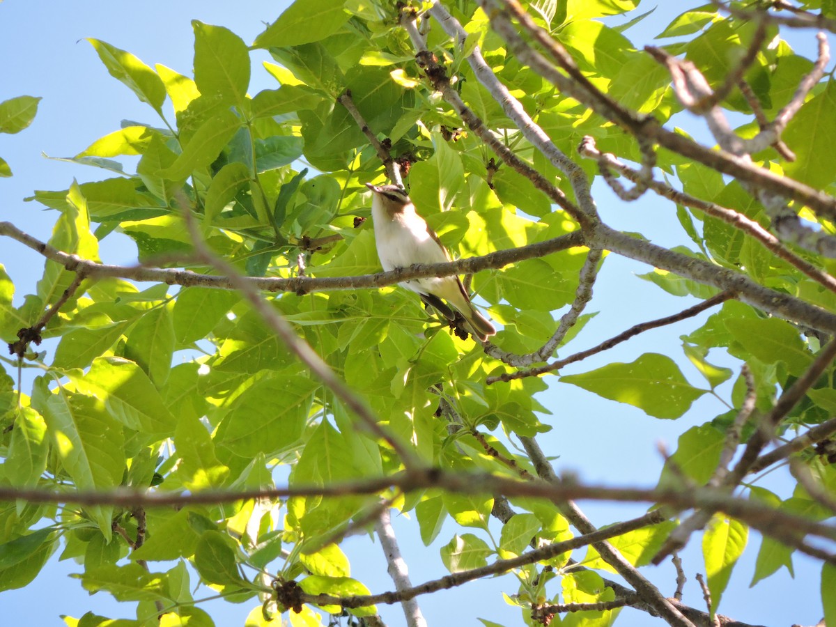
[[[191, 74], [192, 19], [221, 24], [244, 41], [252, 42], [263, 30], [263, 23], [275, 19], [286, 5], [286, 0], [278, 3], [267, 0], [237, 0], [234, 3], [221, 0], [170, 0], [165, 3], [159, 0], [144, 3], [6, 0], [0, 3], [0, 59], [3, 59], [0, 100], [22, 94], [43, 97], [38, 116], [30, 128], [18, 135], [0, 135], [0, 155], [14, 172], [13, 178], [0, 179], [0, 197], [3, 199], [0, 220], [14, 222], [35, 237], [46, 240], [54, 215], [44, 213], [43, 207], [36, 203], [23, 202], [23, 197], [30, 196], [36, 189], [66, 189], [74, 177], [79, 181], [93, 181], [104, 178], [106, 173], [44, 159], [42, 152], [51, 156], [74, 155], [100, 136], [117, 130], [124, 119], [157, 123], [154, 112], [147, 105], [140, 103], [129, 89], [107, 74], [84, 38], [104, 39], [129, 50], [146, 64], [161, 63], [183, 74]], [[628, 33], [637, 48], [650, 43], [655, 33], [681, 10], [683, 3], [662, 5], [645, 24]], [[639, 13], [653, 6], [653, 3], [642, 3]], [[275, 87], [275, 81], [260, 68], [260, 61], [267, 59], [267, 55], [256, 53], [252, 59], [251, 94]], [[641, 231], [663, 245], [681, 242], [680, 229], [670, 205], [648, 197], [625, 207], [606, 191], [600, 191], [598, 202], [605, 219], [615, 227]], [[135, 248], [124, 244], [123, 239], [103, 246], [103, 260], [107, 263], [135, 260]], [[18, 299], [34, 289], [43, 268], [38, 255], [9, 240], [0, 240], [0, 263], [6, 265], [15, 280]], [[645, 273], [649, 269], [624, 259], [610, 258], [604, 264], [591, 306], [592, 310], [601, 313], [584, 331], [579, 348], [593, 345], [631, 324], [675, 313], [691, 304], [633, 278], [634, 273]], [[641, 303], [641, 306], [630, 306], [634, 303]], [[703, 319], [705, 316], [683, 326], [644, 334], [610, 354], [590, 359], [589, 363], [581, 364], [573, 371], [591, 370], [612, 359], [632, 361], [644, 352], [662, 352], [675, 356], [691, 382], [704, 387], [696, 370], [681, 359], [678, 348], [679, 335], [696, 329]], [[722, 358], [718, 355], [716, 360], [722, 361]], [[726, 359], [726, 363], [732, 362]], [[724, 391], [727, 395], [728, 390]], [[544, 402], [556, 409], [554, 415], [546, 418], [554, 430], [543, 436], [541, 444], [558, 456], [555, 461], [558, 469], [577, 472], [589, 481], [616, 485], [633, 483], [643, 487], [655, 482], [660, 472], [662, 461], [656, 452], [658, 441], [665, 441], [672, 450], [676, 437], [688, 426], [702, 424], [724, 410], [718, 400], [706, 395], [681, 420], [659, 421], [640, 410], [614, 405], [571, 385], [552, 385]], [[785, 489], [788, 483], [781, 482], [779, 473], [775, 474], [777, 486]], [[789, 495], [784, 493], [782, 496]], [[624, 505], [582, 503], [581, 506], [598, 524], [643, 512], [642, 507]], [[446, 571], [441, 565], [439, 547], [425, 548], [414, 527], [410, 521], [395, 521], [413, 584], [418, 584], [426, 579], [436, 579]], [[446, 543], [452, 533], [452, 528], [442, 531], [441, 543]], [[782, 571], [750, 591], [747, 586], [760, 540], [752, 534], [749, 543], [747, 554], [726, 591], [721, 613], [753, 624], [818, 622], [821, 618], [818, 566], [796, 558], [795, 580]], [[352, 557], [354, 575], [374, 592], [391, 589], [380, 548], [375, 545], [372, 549], [364, 538], [349, 538], [346, 550]], [[690, 579], [686, 600], [701, 607], [701, 593], [693, 581], [694, 573], [704, 572], [699, 543], [692, 543], [683, 558]], [[130, 606], [115, 604], [104, 594], [89, 597], [77, 581], [67, 577], [68, 573], [79, 570], [71, 561], [56, 563], [54, 559], [26, 589], [0, 594], [0, 608], [6, 616], [25, 617], [30, 624], [44, 627], [63, 624], [59, 614], [79, 617], [89, 609], [114, 618], [132, 617]], [[669, 564], [649, 571], [648, 575], [665, 594], [673, 593], [674, 576]], [[504, 624], [520, 624], [518, 610], [504, 604], [499, 594], [500, 590], [511, 594], [516, 588], [511, 579], [496, 579], [419, 601], [430, 624], [451, 624], [453, 618], [458, 619], [456, 624], [477, 624], [472, 618], [474, 614]], [[251, 608], [249, 604], [216, 603], [206, 609], [216, 618], [217, 624], [242, 624]], [[403, 623], [399, 608], [384, 611], [390, 626]], [[617, 624], [624, 627], [645, 625], [647, 617], [625, 610]]]

